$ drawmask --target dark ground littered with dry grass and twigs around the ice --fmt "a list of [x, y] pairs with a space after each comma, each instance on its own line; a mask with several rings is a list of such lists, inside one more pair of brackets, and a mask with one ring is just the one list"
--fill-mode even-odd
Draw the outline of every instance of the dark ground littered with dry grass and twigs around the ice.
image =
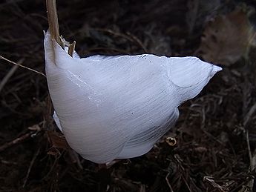
[[[80, 56], [196, 55], [223, 71], [180, 107], [177, 145], [99, 171], [56, 130], [45, 77], [0, 60], [0, 191], [256, 191], [256, 1], [57, 4]], [[43, 30], [45, 1], [1, 1], [0, 56], [44, 73]]]

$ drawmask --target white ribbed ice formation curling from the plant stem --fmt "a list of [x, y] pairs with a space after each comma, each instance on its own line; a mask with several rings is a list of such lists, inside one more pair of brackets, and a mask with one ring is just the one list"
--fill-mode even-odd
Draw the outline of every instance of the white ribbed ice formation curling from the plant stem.
[[73, 150], [96, 163], [147, 153], [220, 67], [196, 57], [70, 57], [45, 34], [54, 119]]

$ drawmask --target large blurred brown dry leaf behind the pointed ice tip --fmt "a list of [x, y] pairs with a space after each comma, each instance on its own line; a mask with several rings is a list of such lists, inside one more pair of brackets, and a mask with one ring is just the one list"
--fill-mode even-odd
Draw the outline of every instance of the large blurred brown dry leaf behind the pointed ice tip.
[[254, 33], [248, 16], [242, 10], [217, 16], [206, 25], [196, 53], [208, 62], [229, 66], [247, 56]]

